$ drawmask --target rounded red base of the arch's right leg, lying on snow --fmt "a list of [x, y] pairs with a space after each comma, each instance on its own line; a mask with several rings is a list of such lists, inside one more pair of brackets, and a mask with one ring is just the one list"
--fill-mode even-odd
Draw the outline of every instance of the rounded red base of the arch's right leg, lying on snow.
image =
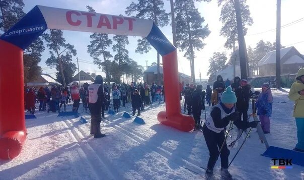
[[192, 131], [195, 127], [193, 117], [181, 113], [167, 116], [166, 111], [161, 111], [157, 118], [163, 125], [170, 126], [184, 132]]

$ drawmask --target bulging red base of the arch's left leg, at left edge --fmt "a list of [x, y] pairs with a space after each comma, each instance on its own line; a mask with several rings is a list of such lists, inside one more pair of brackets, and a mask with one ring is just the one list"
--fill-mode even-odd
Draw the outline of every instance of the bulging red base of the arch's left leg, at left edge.
[[22, 144], [26, 139], [23, 131], [11, 131], [0, 138], [0, 159], [13, 159], [17, 157], [21, 150]]

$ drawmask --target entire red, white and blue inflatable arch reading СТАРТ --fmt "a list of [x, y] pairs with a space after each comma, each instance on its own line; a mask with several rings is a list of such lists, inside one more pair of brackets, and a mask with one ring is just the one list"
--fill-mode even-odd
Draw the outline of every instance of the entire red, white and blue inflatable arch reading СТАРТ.
[[46, 29], [145, 37], [163, 56], [166, 111], [158, 114], [159, 122], [185, 132], [193, 130], [193, 118], [180, 110], [176, 48], [153, 21], [35, 6], [0, 37], [1, 159], [18, 156], [25, 142], [23, 50]]

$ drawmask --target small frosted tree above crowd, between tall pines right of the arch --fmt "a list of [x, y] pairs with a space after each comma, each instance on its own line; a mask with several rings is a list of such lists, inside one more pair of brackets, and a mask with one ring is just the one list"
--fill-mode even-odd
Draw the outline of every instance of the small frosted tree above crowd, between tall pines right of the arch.
[[208, 82], [215, 81], [216, 72], [226, 68], [227, 57], [224, 52], [214, 52], [213, 56], [209, 59], [209, 70], [207, 75], [209, 75]]

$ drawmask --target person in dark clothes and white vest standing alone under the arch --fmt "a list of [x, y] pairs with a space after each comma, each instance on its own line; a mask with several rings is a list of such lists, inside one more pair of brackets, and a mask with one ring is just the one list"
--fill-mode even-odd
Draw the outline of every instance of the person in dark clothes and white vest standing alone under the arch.
[[94, 135], [94, 138], [102, 138], [106, 135], [100, 132], [102, 104], [106, 101], [104, 88], [102, 86], [103, 78], [97, 75], [95, 82], [89, 85], [89, 109], [91, 112], [91, 131], [90, 134]]

